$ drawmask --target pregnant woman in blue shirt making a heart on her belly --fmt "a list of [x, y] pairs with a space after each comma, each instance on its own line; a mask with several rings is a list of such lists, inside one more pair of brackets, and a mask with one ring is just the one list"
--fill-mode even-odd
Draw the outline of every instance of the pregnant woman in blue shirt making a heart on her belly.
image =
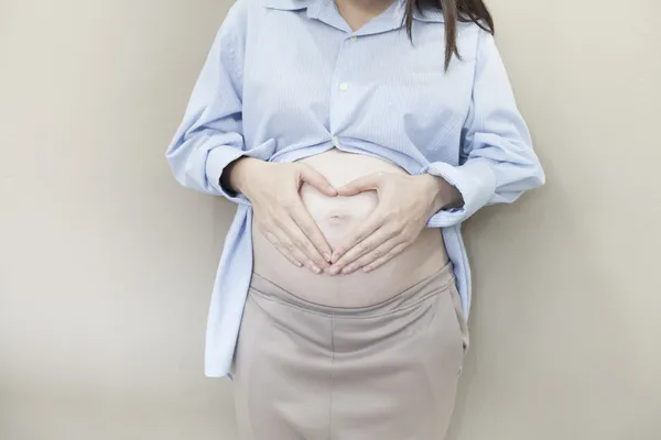
[[481, 0], [238, 0], [166, 156], [238, 205], [207, 327], [253, 440], [442, 439], [459, 226], [544, 175]]

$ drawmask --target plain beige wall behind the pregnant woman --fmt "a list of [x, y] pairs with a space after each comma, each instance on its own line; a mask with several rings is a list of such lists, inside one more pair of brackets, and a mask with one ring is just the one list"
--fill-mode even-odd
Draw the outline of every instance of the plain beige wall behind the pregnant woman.
[[[203, 377], [232, 206], [163, 160], [228, 4], [0, 0], [0, 440], [236, 438]], [[451, 438], [658, 440], [661, 6], [490, 4], [549, 184], [467, 227]]]

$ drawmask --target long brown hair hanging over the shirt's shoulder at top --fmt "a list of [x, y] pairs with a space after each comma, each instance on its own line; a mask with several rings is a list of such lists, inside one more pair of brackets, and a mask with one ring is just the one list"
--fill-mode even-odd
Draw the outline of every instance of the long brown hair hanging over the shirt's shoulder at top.
[[413, 12], [426, 8], [441, 9], [445, 18], [445, 70], [449, 67], [452, 56], [459, 56], [457, 22], [472, 22], [494, 34], [494, 19], [483, 0], [407, 0], [403, 21], [411, 41], [413, 41]]

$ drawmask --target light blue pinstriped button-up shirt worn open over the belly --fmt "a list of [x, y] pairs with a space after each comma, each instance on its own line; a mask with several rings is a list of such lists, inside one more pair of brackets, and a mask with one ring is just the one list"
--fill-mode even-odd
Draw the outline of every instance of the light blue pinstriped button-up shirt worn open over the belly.
[[442, 230], [466, 316], [460, 223], [543, 184], [494, 37], [460, 23], [460, 59], [446, 73], [442, 12], [416, 12], [411, 43], [403, 6], [353, 32], [333, 0], [238, 0], [220, 26], [166, 153], [182, 185], [238, 204], [212, 296], [206, 375], [230, 372], [252, 273], [250, 202], [219, 184], [238, 157], [293, 162], [337, 147], [446, 179], [465, 205], [427, 227]]

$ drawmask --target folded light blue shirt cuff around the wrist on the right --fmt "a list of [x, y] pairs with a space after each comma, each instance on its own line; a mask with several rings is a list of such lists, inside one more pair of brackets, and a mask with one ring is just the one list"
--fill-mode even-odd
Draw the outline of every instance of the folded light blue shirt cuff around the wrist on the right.
[[447, 228], [465, 221], [487, 205], [496, 193], [496, 176], [491, 165], [480, 158], [469, 160], [459, 166], [433, 162], [424, 173], [445, 179], [464, 198], [463, 207], [443, 209], [432, 216], [427, 221], [429, 228]]

